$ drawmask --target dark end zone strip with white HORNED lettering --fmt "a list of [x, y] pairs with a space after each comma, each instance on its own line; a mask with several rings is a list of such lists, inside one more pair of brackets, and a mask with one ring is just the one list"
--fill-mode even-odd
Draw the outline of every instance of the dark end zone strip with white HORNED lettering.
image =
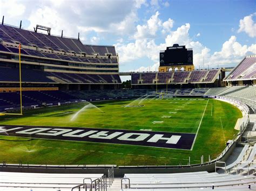
[[193, 133], [142, 132], [123, 129], [15, 125], [0, 126], [0, 135], [176, 149], [191, 149], [195, 137], [195, 134]]

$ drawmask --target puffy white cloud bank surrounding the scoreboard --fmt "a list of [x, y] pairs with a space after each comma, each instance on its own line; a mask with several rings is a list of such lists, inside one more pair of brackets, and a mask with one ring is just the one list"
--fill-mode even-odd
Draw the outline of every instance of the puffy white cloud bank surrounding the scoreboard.
[[[155, 14], [152, 18], [158, 18]], [[145, 38], [149, 36], [149, 21], [146, 22], [144, 25], [137, 26], [137, 32], [134, 39], [134, 42], [129, 44], [124, 43], [117, 43], [116, 50], [119, 53], [120, 64], [122, 65], [125, 62], [131, 62], [132, 60], [138, 60], [140, 58], [150, 58], [153, 63], [155, 63], [151, 67], [151, 71], [158, 68], [159, 66], [159, 51], [165, 50], [167, 46], [172, 46], [173, 44], [179, 45], [186, 45], [187, 48], [193, 49], [193, 63], [196, 68], [199, 66], [202, 68], [203, 64], [206, 68], [209, 66], [212, 67], [221, 67], [221, 66], [234, 66], [235, 64], [239, 63], [240, 60], [246, 56], [247, 54], [256, 53], [256, 44], [252, 44], [250, 46], [241, 45], [237, 42], [237, 38], [235, 36], [231, 36], [230, 39], [226, 40], [221, 47], [221, 50], [218, 52], [211, 53], [211, 50], [201, 44], [199, 41], [194, 41], [190, 36], [190, 23], [186, 23], [185, 25], [181, 25], [176, 30], [172, 30], [172, 25], [168, 25], [170, 28], [170, 32], [166, 33], [165, 43], [163, 44], [156, 44], [154, 39]], [[171, 19], [168, 19], [165, 22], [162, 22], [159, 18], [155, 19], [154, 26], [157, 26], [156, 23], [160, 23], [156, 30], [154, 30], [153, 34], [157, 35], [159, 31], [163, 33], [164, 30], [164, 23], [173, 23]], [[172, 21], [172, 22], [170, 22]], [[166, 25], [165, 25], [166, 26]], [[140, 27], [147, 29], [147, 33], [144, 31], [142, 33], [140, 31]], [[166, 27], [165, 27], [166, 29]], [[141, 35], [138, 35], [141, 34]], [[143, 35], [142, 35], [143, 34]], [[200, 33], [196, 35], [197, 37], [200, 36]], [[153, 69], [154, 68], [154, 69]], [[149, 71], [149, 66], [145, 67], [138, 67], [136, 71]]]

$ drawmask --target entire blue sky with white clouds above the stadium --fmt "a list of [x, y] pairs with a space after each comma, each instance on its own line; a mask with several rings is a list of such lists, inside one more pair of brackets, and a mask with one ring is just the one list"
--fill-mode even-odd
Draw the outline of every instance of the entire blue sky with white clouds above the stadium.
[[192, 47], [196, 68], [235, 66], [256, 54], [256, 2], [225, 0], [0, 1], [5, 23], [114, 45], [120, 71], [157, 70], [159, 51], [174, 43]]

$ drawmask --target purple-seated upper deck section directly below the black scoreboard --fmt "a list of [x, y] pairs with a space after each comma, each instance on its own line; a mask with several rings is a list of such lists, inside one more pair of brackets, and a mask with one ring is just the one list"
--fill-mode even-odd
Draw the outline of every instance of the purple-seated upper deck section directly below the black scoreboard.
[[220, 73], [219, 69], [178, 72], [132, 73], [132, 85], [138, 84], [188, 84], [213, 83]]

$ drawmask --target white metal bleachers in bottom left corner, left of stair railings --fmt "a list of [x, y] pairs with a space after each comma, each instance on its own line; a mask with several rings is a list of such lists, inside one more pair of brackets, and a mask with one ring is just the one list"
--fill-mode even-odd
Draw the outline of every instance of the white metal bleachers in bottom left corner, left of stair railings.
[[[83, 182], [100, 179], [103, 174], [45, 174], [0, 172], [0, 188], [11, 190], [71, 190]], [[90, 180], [91, 179], [91, 180]], [[30, 189], [28, 189], [30, 188]], [[87, 187], [87, 189], [90, 189]], [[77, 189], [78, 190], [78, 189]]]

